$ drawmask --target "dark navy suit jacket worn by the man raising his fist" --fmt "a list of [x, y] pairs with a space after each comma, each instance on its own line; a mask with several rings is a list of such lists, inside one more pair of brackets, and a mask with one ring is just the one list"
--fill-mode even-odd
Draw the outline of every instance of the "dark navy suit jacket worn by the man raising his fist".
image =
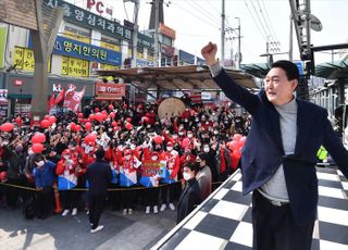
[[265, 91], [250, 93], [222, 71], [216, 84], [234, 102], [252, 116], [251, 129], [241, 154], [244, 195], [259, 188], [276, 172], [281, 163], [290, 200], [293, 216], [298, 225], [315, 220], [318, 205], [316, 152], [321, 145], [348, 177], [348, 152], [332, 128], [325, 109], [296, 99], [297, 136], [295, 152], [285, 155], [279, 114], [268, 100]]

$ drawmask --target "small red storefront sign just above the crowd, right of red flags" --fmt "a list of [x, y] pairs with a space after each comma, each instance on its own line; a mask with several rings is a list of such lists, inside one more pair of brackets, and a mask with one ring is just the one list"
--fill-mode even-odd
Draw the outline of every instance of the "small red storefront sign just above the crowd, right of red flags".
[[121, 100], [125, 95], [126, 86], [124, 84], [96, 83], [96, 99]]

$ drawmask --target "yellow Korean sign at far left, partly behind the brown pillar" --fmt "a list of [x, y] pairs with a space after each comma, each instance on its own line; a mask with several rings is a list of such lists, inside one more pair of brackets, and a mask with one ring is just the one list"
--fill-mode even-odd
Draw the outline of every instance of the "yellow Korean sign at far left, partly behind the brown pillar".
[[[15, 68], [34, 72], [35, 58], [34, 51], [27, 48], [14, 47], [13, 64]], [[48, 71], [51, 68], [51, 60], [48, 61]]]

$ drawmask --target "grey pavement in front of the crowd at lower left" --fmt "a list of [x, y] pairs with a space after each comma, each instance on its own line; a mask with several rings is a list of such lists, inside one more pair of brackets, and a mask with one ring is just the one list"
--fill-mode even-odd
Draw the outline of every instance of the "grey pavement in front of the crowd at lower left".
[[146, 215], [136, 210], [133, 215], [105, 210], [100, 224], [104, 229], [89, 233], [88, 217], [52, 215], [47, 220], [25, 220], [21, 209], [0, 208], [0, 249], [150, 249], [175, 226], [176, 211], [166, 210]]

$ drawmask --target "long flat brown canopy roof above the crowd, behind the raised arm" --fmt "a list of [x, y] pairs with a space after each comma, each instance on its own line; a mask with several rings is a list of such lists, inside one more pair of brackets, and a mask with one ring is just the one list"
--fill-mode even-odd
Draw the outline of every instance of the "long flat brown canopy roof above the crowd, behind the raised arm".
[[[226, 72], [240, 86], [248, 89], [259, 88], [253, 76], [235, 70]], [[98, 74], [123, 78], [125, 83], [137, 83], [145, 89], [154, 87], [162, 90], [220, 89], [212, 79], [209, 68], [199, 65], [98, 71]]]

